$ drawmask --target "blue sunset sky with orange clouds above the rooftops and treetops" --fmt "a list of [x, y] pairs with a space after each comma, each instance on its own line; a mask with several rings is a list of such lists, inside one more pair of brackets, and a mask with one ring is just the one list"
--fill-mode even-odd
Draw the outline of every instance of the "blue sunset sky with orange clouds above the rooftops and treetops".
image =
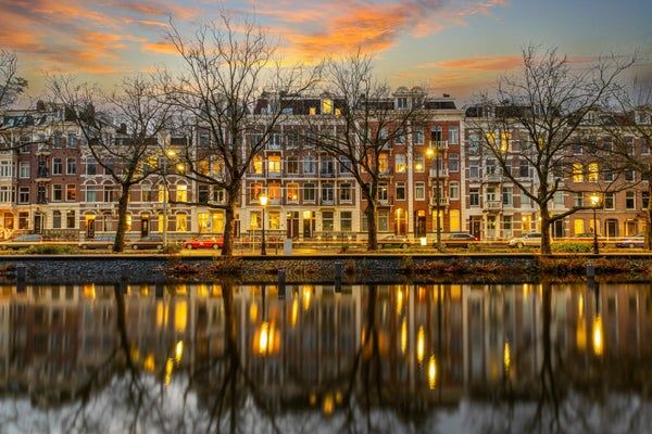
[[38, 92], [46, 72], [83, 74], [106, 86], [174, 68], [167, 17], [184, 31], [220, 10], [256, 21], [280, 38], [287, 59], [311, 62], [362, 46], [394, 86], [428, 84], [462, 102], [519, 63], [529, 41], [574, 59], [640, 50], [652, 79], [650, 0], [0, 0], [0, 47], [15, 50]]

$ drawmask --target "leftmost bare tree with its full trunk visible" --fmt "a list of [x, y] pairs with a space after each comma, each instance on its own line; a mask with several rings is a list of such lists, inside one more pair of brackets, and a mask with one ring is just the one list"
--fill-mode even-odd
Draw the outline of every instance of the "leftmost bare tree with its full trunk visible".
[[170, 126], [171, 107], [145, 76], [125, 78], [109, 93], [66, 76], [52, 77], [49, 88], [57, 101], [74, 111], [87, 151], [118, 189], [113, 251], [122, 252], [129, 193], [158, 173], [151, 161], [160, 152], [159, 137]]

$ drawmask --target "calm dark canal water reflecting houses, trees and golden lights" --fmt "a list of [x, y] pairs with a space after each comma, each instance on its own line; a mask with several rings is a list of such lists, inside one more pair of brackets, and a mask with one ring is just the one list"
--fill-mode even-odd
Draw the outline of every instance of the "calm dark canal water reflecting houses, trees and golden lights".
[[652, 284], [0, 288], [0, 432], [637, 433]]

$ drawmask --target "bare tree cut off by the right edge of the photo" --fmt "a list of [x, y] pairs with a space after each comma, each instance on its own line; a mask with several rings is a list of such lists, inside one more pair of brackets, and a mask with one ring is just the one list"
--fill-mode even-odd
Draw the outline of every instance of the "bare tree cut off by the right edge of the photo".
[[[635, 174], [627, 188], [647, 182], [643, 246], [652, 251], [652, 82], [635, 81], [634, 86], [624, 87], [613, 102], [611, 110], [604, 111], [599, 117], [601, 127], [611, 139], [606, 142], [609, 149], [601, 151], [609, 155], [611, 166]], [[640, 178], [636, 179], [636, 174]]]

